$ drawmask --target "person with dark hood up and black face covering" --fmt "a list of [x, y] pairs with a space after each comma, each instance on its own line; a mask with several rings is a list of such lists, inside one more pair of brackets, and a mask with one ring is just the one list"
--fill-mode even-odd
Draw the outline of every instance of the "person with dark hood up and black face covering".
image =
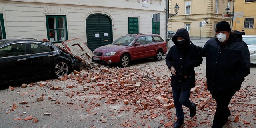
[[190, 44], [188, 31], [179, 29], [172, 38], [172, 46], [166, 55], [166, 65], [172, 74], [172, 94], [176, 116], [178, 120], [174, 128], [179, 128], [184, 123], [184, 112], [182, 105], [190, 109], [190, 117], [196, 115], [196, 104], [189, 100], [190, 90], [195, 86], [194, 67], [200, 66], [202, 56], [194, 44]]

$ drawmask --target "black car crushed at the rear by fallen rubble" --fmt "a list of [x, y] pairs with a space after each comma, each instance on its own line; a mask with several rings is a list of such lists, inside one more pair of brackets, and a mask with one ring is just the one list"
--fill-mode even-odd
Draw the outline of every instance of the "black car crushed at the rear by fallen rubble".
[[70, 74], [81, 61], [51, 42], [32, 38], [0, 40], [0, 84]]

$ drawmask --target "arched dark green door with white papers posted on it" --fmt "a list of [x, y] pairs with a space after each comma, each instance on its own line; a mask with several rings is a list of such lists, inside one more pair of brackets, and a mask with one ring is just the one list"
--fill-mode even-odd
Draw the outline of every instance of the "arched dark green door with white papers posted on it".
[[113, 41], [112, 21], [107, 15], [92, 14], [86, 19], [87, 46], [95, 48], [111, 44]]

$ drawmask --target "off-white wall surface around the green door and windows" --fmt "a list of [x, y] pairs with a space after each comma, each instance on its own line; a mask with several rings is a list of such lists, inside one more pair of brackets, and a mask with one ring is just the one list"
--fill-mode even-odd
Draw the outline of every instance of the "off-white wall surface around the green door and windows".
[[[46, 15], [66, 15], [68, 39], [81, 38], [87, 42], [86, 18], [94, 13], [106, 14], [111, 18], [114, 25], [114, 40], [119, 36], [128, 34], [128, 17], [139, 18], [140, 33], [151, 33], [151, 18], [154, 13], [160, 13], [160, 35], [164, 39], [166, 36], [166, 12], [164, 11], [166, 0], [149, 0], [150, 2], [146, 3], [148, 7], [142, 7], [142, 4], [145, 4], [142, 0], [6, 1], [8, 2], [0, 1], [0, 13], [4, 16], [7, 38], [20, 37], [42, 40], [47, 38]], [[54, 4], [46, 4], [47, 2]]]

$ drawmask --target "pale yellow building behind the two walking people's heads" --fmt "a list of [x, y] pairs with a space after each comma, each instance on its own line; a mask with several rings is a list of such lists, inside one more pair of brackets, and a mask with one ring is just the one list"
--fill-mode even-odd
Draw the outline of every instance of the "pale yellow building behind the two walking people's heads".
[[180, 8], [176, 16], [169, 16], [168, 30], [185, 28], [191, 37], [213, 37], [219, 21], [231, 21], [225, 9], [232, 12], [234, 0], [169, 0], [169, 15], [175, 14], [176, 4]]

